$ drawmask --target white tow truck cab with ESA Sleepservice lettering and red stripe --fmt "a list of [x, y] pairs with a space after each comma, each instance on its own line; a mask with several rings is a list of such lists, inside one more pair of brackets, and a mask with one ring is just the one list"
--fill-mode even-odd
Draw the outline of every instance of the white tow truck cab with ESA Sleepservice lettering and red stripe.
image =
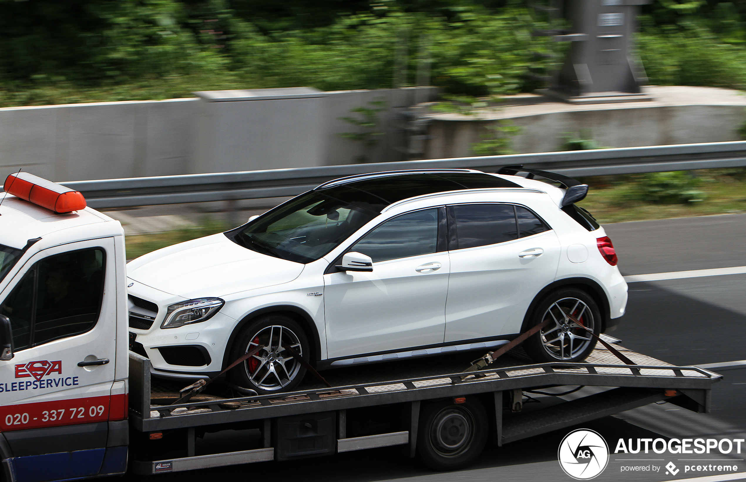
[[0, 344], [10, 345], [0, 357], [5, 480], [122, 474], [129, 436], [122, 225], [89, 207], [55, 213], [69, 206], [45, 198], [72, 190], [22, 176], [36, 198], [0, 195]]

